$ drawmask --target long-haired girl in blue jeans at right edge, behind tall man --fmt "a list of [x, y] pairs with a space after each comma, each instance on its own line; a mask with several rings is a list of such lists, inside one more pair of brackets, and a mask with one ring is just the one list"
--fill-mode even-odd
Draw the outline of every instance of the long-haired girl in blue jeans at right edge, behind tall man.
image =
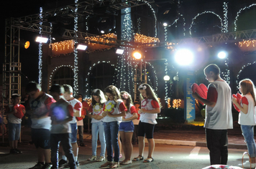
[[233, 97], [232, 102], [236, 105], [239, 112], [238, 123], [241, 125], [242, 135], [244, 135], [244, 140], [247, 144], [248, 153], [250, 155], [250, 161], [246, 161], [244, 164], [239, 164], [239, 166], [244, 168], [255, 168], [256, 166], [256, 145], [254, 139], [253, 128], [256, 125], [255, 121], [255, 85], [250, 79], [243, 79], [239, 82], [239, 90], [242, 92], [242, 102], [241, 105], [237, 102], [237, 99]]

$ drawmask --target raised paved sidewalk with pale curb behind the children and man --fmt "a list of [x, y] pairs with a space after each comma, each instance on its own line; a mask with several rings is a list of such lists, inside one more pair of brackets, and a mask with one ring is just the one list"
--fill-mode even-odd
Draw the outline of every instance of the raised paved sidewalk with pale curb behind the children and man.
[[[229, 148], [247, 149], [246, 143], [244, 143], [244, 137], [242, 136], [242, 132], [239, 127], [234, 127], [234, 129], [228, 130], [228, 137]], [[91, 135], [85, 132], [83, 138], [85, 140], [91, 140]], [[154, 140], [156, 144], [206, 147], [204, 127], [198, 127], [196, 130], [155, 130]], [[30, 128], [22, 127], [22, 142], [24, 143], [29, 141], [31, 141]], [[2, 136], [0, 135], [0, 146], [6, 145], [7, 143], [7, 135], [4, 136], [4, 144], [2, 143]], [[145, 143], [147, 143], [147, 139], [145, 140]]]

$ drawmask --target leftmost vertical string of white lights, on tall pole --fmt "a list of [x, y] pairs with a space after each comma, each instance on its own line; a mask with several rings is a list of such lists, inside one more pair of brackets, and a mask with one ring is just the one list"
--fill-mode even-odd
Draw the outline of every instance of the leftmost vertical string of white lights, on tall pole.
[[[40, 7], [40, 27], [39, 27], [39, 34], [42, 36], [42, 7]], [[39, 54], [38, 54], [38, 84], [42, 86], [42, 42], [40, 42], [39, 47]]]

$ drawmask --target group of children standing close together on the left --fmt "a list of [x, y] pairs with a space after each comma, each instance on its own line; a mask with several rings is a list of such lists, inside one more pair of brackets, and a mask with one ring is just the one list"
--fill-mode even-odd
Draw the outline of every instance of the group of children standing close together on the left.
[[[83, 143], [83, 119], [91, 117], [92, 155], [89, 161], [102, 162], [100, 167], [119, 168], [120, 164], [129, 165], [132, 161], [153, 161], [155, 148], [153, 132], [155, 118], [160, 113], [160, 103], [150, 85], [141, 84], [141, 109], [139, 102], [132, 102], [128, 92], [110, 85], [103, 91], [95, 89], [91, 93], [91, 105], [83, 102], [83, 96], [73, 97], [73, 88], [69, 84], [53, 84], [50, 93], [42, 92], [36, 82], [29, 82], [26, 92], [29, 96], [25, 108], [20, 104], [21, 96], [12, 95], [12, 104], [5, 114], [8, 117], [10, 153], [21, 154], [17, 148], [21, 131], [22, 117], [29, 115], [32, 143], [37, 149], [35, 168], [76, 168], [78, 162], [79, 134], [80, 146]], [[135, 107], [135, 106], [136, 107]], [[135, 127], [134, 127], [135, 126]], [[134, 132], [135, 130], [135, 132]], [[101, 153], [96, 155], [97, 140], [101, 143]], [[147, 158], [143, 158], [145, 135], [150, 145]], [[132, 158], [133, 144], [139, 144], [140, 152]], [[124, 160], [122, 158], [124, 152]], [[59, 159], [59, 154], [60, 158]], [[106, 155], [106, 157], [105, 157]]]

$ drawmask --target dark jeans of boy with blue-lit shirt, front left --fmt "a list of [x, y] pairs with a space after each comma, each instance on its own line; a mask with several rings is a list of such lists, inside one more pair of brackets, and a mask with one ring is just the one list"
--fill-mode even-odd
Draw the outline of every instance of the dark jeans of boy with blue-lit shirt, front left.
[[70, 133], [50, 134], [52, 167], [58, 168], [58, 151], [61, 142], [65, 156], [68, 158], [68, 164], [70, 165], [70, 168], [76, 168], [70, 137]]

